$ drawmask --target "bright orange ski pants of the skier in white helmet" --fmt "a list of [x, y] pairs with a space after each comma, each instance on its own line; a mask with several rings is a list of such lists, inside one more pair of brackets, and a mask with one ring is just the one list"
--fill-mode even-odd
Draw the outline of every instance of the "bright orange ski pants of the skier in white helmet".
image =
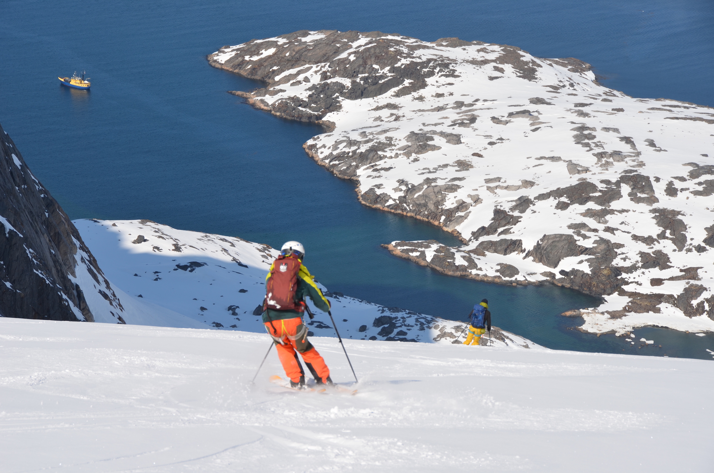
[[308, 340], [308, 327], [303, 324], [302, 317], [273, 320], [273, 322], [265, 322], [265, 326], [275, 341], [283, 370], [293, 382], [299, 382], [300, 377], [305, 375], [296, 351], [302, 355], [315, 380], [321, 379], [322, 382], [327, 382], [330, 370], [323, 357]]

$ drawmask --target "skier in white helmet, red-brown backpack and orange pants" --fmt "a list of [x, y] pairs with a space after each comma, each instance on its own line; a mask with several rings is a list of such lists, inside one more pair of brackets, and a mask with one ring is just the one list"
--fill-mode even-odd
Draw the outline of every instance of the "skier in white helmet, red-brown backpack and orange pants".
[[323, 312], [330, 310], [330, 302], [313, 281], [315, 277], [302, 264], [304, 257], [305, 248], [301, 243], [288, 241], [283, 245], [280, 256], [273, 261], [266, 276], [266, 299], [263, 302], [263, 324], [273, 337], [291, 387], [298, 389], [305, 386], [305, 372], [296, 350], [318, 385], [333, 384], [325, 360], [307, 338], [308, 327], [303, 321], [305, 296], [309, 296]]

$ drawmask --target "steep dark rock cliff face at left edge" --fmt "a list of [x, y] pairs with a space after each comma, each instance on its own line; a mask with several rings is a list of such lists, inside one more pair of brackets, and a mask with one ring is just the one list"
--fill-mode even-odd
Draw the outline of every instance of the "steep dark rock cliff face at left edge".
[[[96, 282], [90, 287], [79, 284], [87, 273]], [[0, 316], [94, 322], [88, 291], [124, 323], [121, 302], [79, 232], [0, 126]]]

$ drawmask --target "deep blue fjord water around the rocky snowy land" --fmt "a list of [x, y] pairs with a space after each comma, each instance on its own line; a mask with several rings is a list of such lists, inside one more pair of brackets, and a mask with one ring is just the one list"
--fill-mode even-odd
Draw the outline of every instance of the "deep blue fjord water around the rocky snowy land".
[[[531, 2], [533, 3], [533, 2]], [[705, 357], [714, 337], [635, 330], [663, 348], [572, 330], [558, 315], [598, 300], [555, 287], [513, 288], [440, 275], [381, 248], [392, 240], [458, 240], [365, 208], [354, 185], [301, 145], [315, 126], [255, 111], [228, 90], [258, 83], [208, 66], [224, 44], [300, 29], [380, 30], [512, 44], [593, 63], [607, 86], [638, 97], [714, 105], [710, 1], [488, 0], [3, 2], [0, 122], [72, 219], [148, 218], [175, 228], [277, 246], [301, 240], [331, 290], [453, 320], [487, 297], [494, 325], [551, 348]], [[56, 77], [86, 69], [92, 90]], [[713, 128], [714, 129], [714, 128]], [[554, 229], [555, 231], [555, 229]], [[339, 316], [339, 307], [335, 313]]]

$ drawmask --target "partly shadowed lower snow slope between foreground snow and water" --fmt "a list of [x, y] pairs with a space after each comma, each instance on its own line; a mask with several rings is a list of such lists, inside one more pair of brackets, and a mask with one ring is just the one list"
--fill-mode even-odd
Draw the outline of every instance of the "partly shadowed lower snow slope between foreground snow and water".
[[[73, 223], [121, 294], [126, 323], [265, 332], [253, 311], [263, 304], [266, 274], [279, 254], [270, 246], [176, 230], [151, 220]], [[463, 322], [383, 307], [341, 293], [326, 295], [340, 335], [347, 339], [458, 342], [462, 335]], [[101, 297], [88, 297], [88, 303], [95, 315], [101, 313], [95, 305], [104, 307]], [[313, 312], [314, 320], [306, 318], [311, 335], [335, 337], [328, 314], [316, 308]], [[491, 335], [496, 345], [537, 346], [498, 327]]]

